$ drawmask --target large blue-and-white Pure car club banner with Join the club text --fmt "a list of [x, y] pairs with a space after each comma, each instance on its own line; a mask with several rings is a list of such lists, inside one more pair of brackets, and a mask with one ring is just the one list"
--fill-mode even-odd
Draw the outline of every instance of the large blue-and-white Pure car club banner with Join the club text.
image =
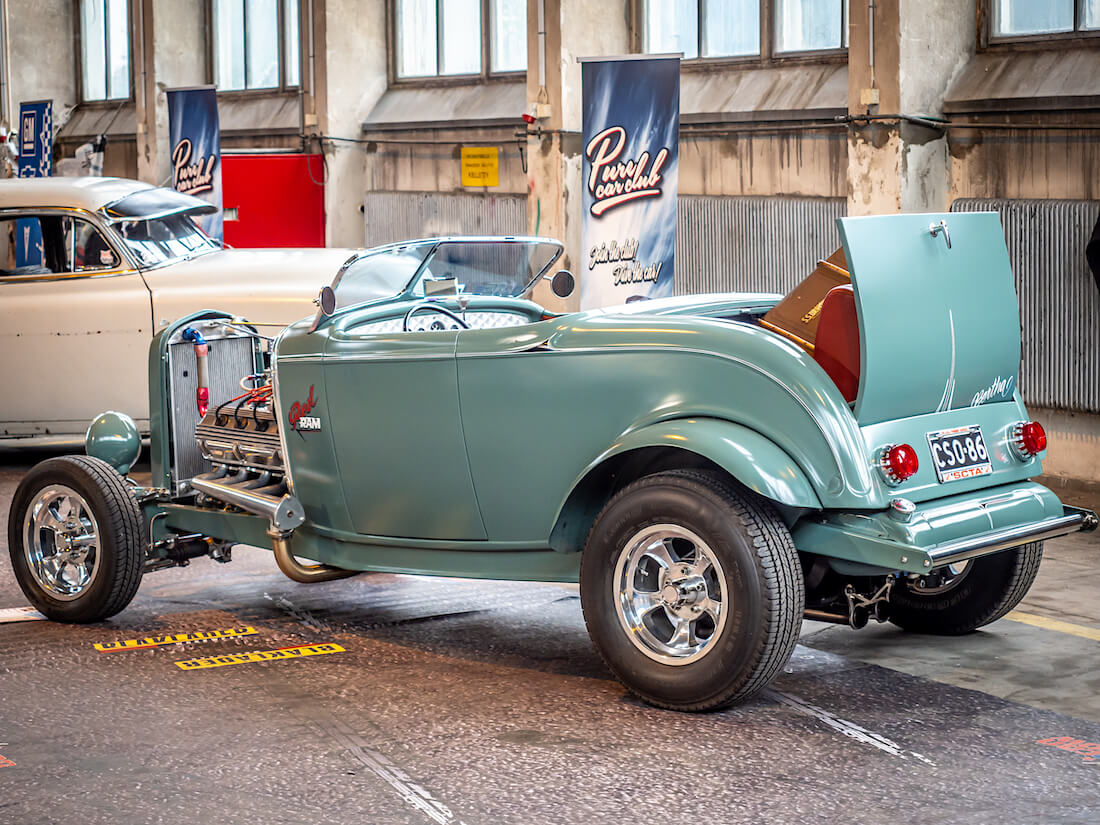
[[672, 295], [680, 56], [581, 61], [581, 308]]

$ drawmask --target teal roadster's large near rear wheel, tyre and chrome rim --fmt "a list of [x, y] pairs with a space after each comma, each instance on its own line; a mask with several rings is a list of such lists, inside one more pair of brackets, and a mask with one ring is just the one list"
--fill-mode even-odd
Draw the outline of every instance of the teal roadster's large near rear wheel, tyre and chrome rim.
[[581, 559], [600, 654], [634, 693], [710, 711], [762, 690], [802, 626], [798, 553], [766, 503], [715, 473], [671, 471], [620, 491]]

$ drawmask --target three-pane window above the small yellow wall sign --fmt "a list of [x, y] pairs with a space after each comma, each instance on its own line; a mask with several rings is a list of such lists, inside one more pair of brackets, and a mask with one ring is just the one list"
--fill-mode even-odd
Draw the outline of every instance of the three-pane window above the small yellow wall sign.
[[393, 10], [398, 79], [527, 69], [527, 0], [394, 0]]

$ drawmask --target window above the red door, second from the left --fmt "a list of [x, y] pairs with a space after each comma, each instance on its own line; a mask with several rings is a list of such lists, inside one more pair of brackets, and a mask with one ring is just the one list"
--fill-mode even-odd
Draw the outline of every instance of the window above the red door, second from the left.
[[298, 86], [298, 0], [213, 0], [212, 35], [220, 91]]

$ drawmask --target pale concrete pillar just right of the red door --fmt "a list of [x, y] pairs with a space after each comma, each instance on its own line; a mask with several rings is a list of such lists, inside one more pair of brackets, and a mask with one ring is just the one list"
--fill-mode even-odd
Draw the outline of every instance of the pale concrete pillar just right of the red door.
[[[358, 139], [362, 122], [386, 90], [386, 7], [384, 0], [302, 0], [314, 7], [312, 61], [320, 134]], [[308, 43], [308, 19], [302, 42]], [[310, 59], [302, 66], [309, 84]], [[307, 112], [307, 132], [309, 125]], [[363, 180], [366, 155], [362, 144], [326, 141], [324, 243], [362, 246]], [[310, 143], [310, 151], [317, 143]]]

